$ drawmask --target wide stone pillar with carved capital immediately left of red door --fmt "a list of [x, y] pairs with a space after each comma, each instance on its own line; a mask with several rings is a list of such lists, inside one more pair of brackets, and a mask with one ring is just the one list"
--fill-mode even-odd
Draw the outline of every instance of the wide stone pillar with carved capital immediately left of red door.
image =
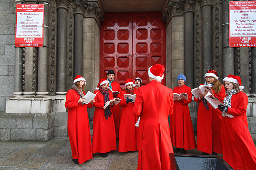
[[[103, 15], [97, 3], [87, 3], [83, 20], [82, 75], [86, 90], [93, 92], [100, 78], [100, 23]], [[87, 109], [89, 120], [93, 120], [93, 108]]]

